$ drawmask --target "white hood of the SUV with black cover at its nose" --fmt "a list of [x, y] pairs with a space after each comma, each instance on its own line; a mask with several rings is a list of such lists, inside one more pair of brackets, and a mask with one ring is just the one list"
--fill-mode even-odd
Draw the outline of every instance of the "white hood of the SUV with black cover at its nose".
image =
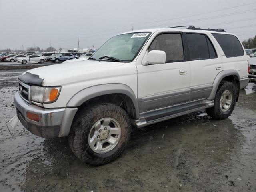
[[[104, 76], [112, 76], [113, 73], [111, 73], [111, 71], [113, 72], [115, 68], [119, 68], [123, 64], [124, 63], [121, 62], [94, 60], [53, 64], [28, 70], [27, 74], [25, 72], [18, 78], [21, 81], [23, 81], [23, 79], [28, 79], [25, 83], [34, 84], [33, 82], [29, 82], [29, 76], [28, 78], [24, 77], [28, 74], [30, 76], [36, 75], [36, 78], [40, 79], [40, 85], [42, 86], [61, 86], [73, 82], [82, 82], [95, 78], [103, 78]], [[31, 80], [33, 81], [33, 78]]]

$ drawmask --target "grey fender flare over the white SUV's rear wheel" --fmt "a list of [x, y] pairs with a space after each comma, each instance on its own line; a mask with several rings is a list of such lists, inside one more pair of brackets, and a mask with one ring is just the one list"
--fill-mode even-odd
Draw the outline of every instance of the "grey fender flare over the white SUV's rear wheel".
[[230, 75], [237, 76], [238, 80], [240, 81], [240, 76], [239, 76], [238, 72], [234, 69], [223, 70], [223, 71], [219, 72], [212, 84], [213, 88], [212, 88], [212, 92], [211, 92], [210, 96], [208, 97], [208, 100], [214, 100], [220, 82], [223, 80], [223, 78], [225, 78], [226, 76], [230, 76]]

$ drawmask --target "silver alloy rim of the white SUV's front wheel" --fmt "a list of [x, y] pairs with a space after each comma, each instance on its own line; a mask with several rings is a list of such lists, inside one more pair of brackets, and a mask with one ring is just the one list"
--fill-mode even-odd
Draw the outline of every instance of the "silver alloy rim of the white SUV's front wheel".
[[119, 142], [121, 127], [114, 118], [102, 118], [90, 129], [88, 143], [92, 151], [103, 154], [111, 151]]

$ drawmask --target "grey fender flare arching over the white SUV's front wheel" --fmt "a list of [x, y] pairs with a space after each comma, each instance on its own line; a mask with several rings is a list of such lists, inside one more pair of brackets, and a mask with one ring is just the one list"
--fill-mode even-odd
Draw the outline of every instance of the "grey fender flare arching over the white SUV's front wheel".
[[111, 83], [111, 84], [100, 84], [96, 86], [91, 86], [80, 90], [77, 92], [66, 104], [67, 107], [78, 107], [81, 106], [84, 102], [94, 97], [106, 95], [106, 94], [125, 94], [127, 95], [134, 105], [136, 119], [139, 119], [140, 112], [138, 106], [138, 99], [136, 98], [133, 90], [125, 85], [119, 83]]

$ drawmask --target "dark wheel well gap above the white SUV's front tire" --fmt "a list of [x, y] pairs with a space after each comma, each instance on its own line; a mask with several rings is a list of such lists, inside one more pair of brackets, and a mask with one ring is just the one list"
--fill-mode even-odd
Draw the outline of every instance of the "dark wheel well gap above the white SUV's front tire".
[[132, 99], [127, 96], [126, 94], [121, 94], [121, 93], [113, 93], [113, 94], [106, 94], [102, 96], [97, 96], [94, 98], [91, 98], [84, 102], [79, 108], [83, 107], [86, 104], [92, 103], [92, 102], [111, 102], [114, 103], [121, 108], [123, 108], [128, 116], [132, 119], [136, 119], [136, 110], [134, 107], [134, 104], [132, 102]]

